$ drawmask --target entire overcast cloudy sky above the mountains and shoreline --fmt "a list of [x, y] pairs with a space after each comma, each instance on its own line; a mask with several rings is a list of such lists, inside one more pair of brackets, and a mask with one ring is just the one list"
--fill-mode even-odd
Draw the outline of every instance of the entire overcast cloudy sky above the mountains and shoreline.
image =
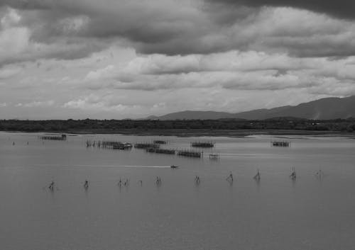
[[355, 94], [355, 1], [0, 0], [0, 119]]

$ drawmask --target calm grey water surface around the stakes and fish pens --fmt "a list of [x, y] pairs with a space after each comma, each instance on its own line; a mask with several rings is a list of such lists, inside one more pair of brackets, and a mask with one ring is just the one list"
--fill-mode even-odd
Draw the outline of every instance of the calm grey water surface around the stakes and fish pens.
[[[350, 137], [277, 138], [292, 147], [275, 148], [276, 138], [266, 135], [80, 135], [44, 144], [38, 135], [0, 132], [0, 249], [354, 249]], [[205, 150], [204, 159], [188, 159], [85, 145], [153, 139], [174, 149], [190, 148], [194, 140], [214, 140], [216, 147]], [[219, 161], [208, 159], [211, 152]], [[296, 181], [288, 177], [293, 166]], [[252, 178], [257, 169], [260, 182]], [[319, 169], [324, 178], [315, 175]], [[130, 185], [120, 188], [119, 178]]]

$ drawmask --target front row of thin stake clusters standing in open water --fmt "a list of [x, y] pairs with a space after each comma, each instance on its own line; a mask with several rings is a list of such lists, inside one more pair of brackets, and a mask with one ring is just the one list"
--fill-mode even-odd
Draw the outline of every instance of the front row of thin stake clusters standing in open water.
[[[316, 176], [319, 177], [319, 178], [321, 178], [322, 176], [324, 176], [323, 171], [322, 171], [321, 169], [320, 169], [319, 171], [317, 171]], [[290, 174], [289, 177], [290, 177], [290, 179], [293, 180], [293, 181], [296, 180], [297, 175], [296, 175], [295, 167], [292, 167], [292, 168], [291, 168], [291, 174]], [[257, 171], [256, 175], [253, 176], [253, 179], [256, 180], [256, 181], [260, 181], [260, 180], [261, 180], [261, 174], [260, 174], [260, 171], [259, 171], [259, 170]], [[226, 177], [226, 181], [228, 181], [230, 184], [233, 183], [234, 177], [233, 177], [233, 174], [232, 174], [232, 173], [230, 173], [229, 176]], [[194, 182], [195, 182], [195, 184], [199, 185], [200, 182], [201, 182], [200, 176], [195, 176]], [[140, 180], [139, 183], [141, 184], [141, 186], [143, 186], [143, 181], [142, 181], [142, 180]], [[155, 184], [156, 184], [156, 186], [161, 186], [162, 181], [161, 181], [160, 176], [156, 176], [156, 178], [155, 178]], [[120, 178], [120, 179], [119, 179], [119, 182], [117, 183], [117, 185], [118, 185], [119, 187], [121, 187], [121, 186], [129, 186], [129, 179], [126, 178], [126, 180], [123, 181], [123, 180]], [[84, 186], [84, 189], [87, 190], [87, 189], [89, 188], [89, 181], [85, 180], [83, 186]], [[52, 182], [50, 183], [50, 185], [48, 186], [48, 188], [50, 189], [50, 191], [54, 191], [54, 189], [55, 189], [55, 183], [54, 183], [54, 181], [52, 181]]]

